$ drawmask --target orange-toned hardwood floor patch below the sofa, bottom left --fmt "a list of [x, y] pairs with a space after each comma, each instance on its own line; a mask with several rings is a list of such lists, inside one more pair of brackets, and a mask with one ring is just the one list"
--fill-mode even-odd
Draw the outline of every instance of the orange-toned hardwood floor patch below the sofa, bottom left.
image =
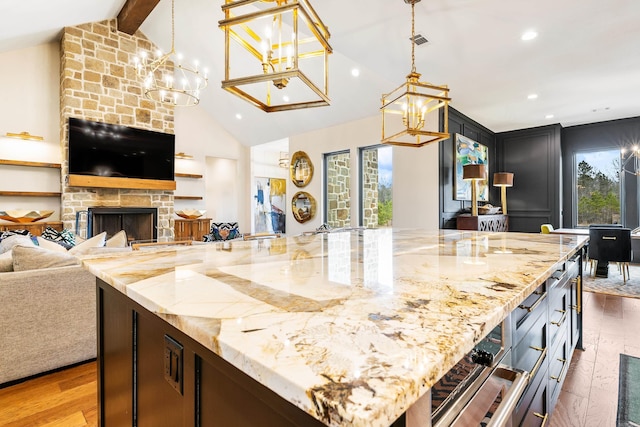
[[0, 426], [98, 424], [96, 362], [0, 389]]

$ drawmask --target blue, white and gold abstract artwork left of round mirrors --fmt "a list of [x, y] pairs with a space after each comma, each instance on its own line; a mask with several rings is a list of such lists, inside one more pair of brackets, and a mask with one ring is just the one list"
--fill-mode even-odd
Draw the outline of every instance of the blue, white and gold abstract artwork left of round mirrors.
[[253, 189], [256, 233], [285, 233], [287, 180], [256, 177]]

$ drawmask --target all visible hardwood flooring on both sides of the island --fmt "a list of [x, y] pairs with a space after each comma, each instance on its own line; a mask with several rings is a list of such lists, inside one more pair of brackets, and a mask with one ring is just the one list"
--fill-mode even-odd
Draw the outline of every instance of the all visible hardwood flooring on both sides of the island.
[[[640, 299], [584, 294], [585, 350], [574, 353], [557, 427], [615, 427], [620, 353], [640, 357]], [[97, 425], [96, 362], [0, 389], [0, 426]]]

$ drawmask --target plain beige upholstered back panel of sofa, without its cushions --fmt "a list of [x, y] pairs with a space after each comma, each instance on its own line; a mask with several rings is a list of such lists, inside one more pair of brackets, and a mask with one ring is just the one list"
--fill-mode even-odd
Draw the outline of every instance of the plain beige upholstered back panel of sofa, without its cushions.
[[79, 265], [0, 273], [0, 385], [95, 357], [95, 276]]

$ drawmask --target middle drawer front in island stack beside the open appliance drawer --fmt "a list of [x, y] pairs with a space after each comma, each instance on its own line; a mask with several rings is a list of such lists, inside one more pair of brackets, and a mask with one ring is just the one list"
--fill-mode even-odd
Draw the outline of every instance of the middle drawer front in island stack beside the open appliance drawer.
[[540, 316], [511, 352], [513, 367], [529, 372], [531, 378], [547, 370], [547, 328], [547, 316]]

